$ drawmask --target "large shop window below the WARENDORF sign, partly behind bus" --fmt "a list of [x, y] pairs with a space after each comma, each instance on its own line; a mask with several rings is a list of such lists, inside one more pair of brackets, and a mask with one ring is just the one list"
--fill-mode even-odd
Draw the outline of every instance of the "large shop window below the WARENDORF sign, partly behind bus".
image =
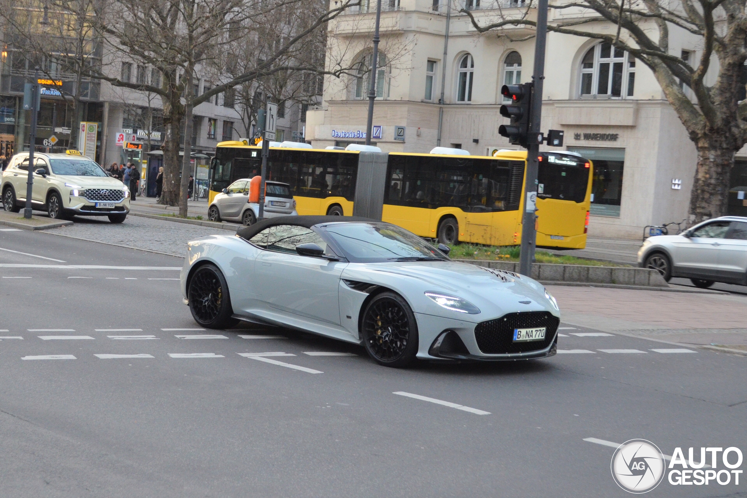
[[625, 149], [589, 149], [568, 147], [594, 163], [592, 206], [589, 213], [595, 216], [620, 217], [622, 201], [622, 170]]

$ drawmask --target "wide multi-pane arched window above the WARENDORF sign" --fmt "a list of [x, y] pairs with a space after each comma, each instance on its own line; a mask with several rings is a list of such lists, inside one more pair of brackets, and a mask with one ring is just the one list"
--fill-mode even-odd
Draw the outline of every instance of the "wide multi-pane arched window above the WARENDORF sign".
[[581, 60], [581, 97], [632, 97], [635, 82], [635, 57], [611, 43], [598, 43]]

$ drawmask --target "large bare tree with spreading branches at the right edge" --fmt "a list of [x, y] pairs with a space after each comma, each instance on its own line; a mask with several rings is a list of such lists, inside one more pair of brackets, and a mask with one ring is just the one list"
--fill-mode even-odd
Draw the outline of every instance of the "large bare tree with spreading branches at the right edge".
[[[745, 2], [581, 0], [551, 8], [588, 9], [592, 15], [548, 25], [548, 31], [604, 40], [651, 69], [698, 150], [689, 204], [691, 222], [725, 214], [734, 153], [747, 141], [747, 99], [740, 101], [740, 93], [743, 99], [745, 94], [742, 74], [747, 60]], [[470, 11], [461, 11], [480, 33], [509, 25], [536, 26], [526, 15], [500, 16], [480, 25]], [[600, 21], [617, 25], [616, 32], [601, 34], [579, 28]], [[701, 47], [699, 60], [691, 64], [672, 55], [670, 31], [695, 35]], [[716, 74], [715, 78], [709, 73]], [[692, 90], [694, 99], [688, 98], [683, 84]]]

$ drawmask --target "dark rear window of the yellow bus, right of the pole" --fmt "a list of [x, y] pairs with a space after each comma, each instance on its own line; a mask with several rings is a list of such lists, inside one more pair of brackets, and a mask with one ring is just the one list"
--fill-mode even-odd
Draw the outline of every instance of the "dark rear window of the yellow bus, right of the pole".
[[552, 153], [539, 158], [537, 197], [583, 202], [589, 184], [589, 161]]

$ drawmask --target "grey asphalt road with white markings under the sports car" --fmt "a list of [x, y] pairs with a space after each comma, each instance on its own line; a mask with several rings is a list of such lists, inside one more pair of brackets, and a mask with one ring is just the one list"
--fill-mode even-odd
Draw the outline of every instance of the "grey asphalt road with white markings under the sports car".
[[28, 231], [0, 249], [2, 497], [623, 497], [585, 439], [747, 449], [742, 356], [562, 325], [545, 360], [393, 370], [310, 334], [196, 330], [181, 258]]

